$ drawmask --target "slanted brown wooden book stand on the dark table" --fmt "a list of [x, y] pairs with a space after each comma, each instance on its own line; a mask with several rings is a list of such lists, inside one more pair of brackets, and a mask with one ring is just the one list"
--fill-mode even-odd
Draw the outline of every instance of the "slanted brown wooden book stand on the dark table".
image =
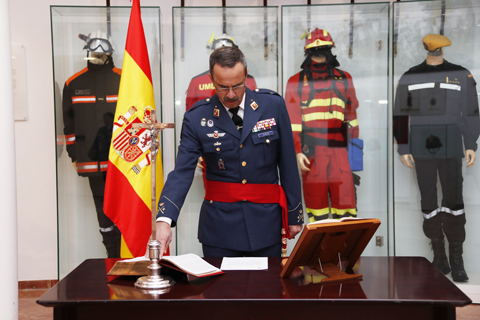
[[379, 226], [378, 219], [355, 218], [306, 225], [292, 254], [283, 260], [280, 277], [289, 277], [296, 267], [308, 266], [327, 276], [322, 282], [362, 278], [344, 270], [353, 268]]

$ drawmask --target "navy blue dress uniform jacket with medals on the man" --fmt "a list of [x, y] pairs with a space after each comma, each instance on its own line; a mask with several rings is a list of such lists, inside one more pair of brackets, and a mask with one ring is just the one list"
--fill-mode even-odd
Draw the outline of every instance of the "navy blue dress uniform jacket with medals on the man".
[[[185, 113], [176, 166], [160, 196], [157, 218], [171, 218], [175, 226], [202, 156], [208, 180], [239, 184], [278, 184], [280, 180], [288, 202], [288, 224], [303, 224], [300, 178], [285, 102], [263, 89], [247, 88], [244, 99], [241, 133], [216, 95]], [[254, 251], [280, 242], [281, 228], [282, 209], [277, 203], [204, 200], [198, 238], [209, 246]]]

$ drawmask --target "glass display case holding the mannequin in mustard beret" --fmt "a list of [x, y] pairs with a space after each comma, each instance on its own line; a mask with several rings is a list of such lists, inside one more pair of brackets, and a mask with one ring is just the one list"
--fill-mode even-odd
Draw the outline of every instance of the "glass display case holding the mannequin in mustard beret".
[[478, 287], [480, 2], [395, 2], [393, 13], [395, 254]]

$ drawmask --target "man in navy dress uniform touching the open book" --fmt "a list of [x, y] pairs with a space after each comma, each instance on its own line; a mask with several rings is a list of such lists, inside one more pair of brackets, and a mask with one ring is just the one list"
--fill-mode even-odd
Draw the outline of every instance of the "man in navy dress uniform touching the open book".
[[175, 169], [158, 205], [160, 255], [172, 239], [171, 226], [199, 156], [206, 165], [198, 228], [205, 257], [280, 256], [282, 225], [292, 238], [302, 229], [300, 179], [285, 102], [273, 91], [246, 88], [246, 76], [246, 59], [238, 48], [222, 47], [210, 56], [216, 94], [185, 113]]

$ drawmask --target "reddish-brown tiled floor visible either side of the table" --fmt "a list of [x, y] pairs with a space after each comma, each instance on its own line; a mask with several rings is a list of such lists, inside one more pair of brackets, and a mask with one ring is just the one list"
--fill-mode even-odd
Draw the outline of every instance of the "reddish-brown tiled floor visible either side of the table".
[[[25, 289], [19, 291], [18, 320], [52, 320], [53, 309], [45, 308], [36, 303], [47, 289]], [[457, 320], [480, 319], [480, 305], [472, 304], [457, 308]]]

